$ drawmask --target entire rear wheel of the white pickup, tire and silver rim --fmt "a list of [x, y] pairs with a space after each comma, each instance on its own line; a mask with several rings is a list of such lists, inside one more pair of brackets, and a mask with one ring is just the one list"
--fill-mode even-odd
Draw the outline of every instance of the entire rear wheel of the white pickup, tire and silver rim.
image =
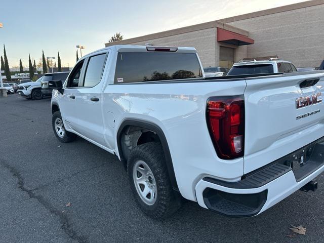
[[151, 218], [166, 218], [180, 207], [160, 143], [135, 147], [128, 159], [128, 175], [137, 204]]

